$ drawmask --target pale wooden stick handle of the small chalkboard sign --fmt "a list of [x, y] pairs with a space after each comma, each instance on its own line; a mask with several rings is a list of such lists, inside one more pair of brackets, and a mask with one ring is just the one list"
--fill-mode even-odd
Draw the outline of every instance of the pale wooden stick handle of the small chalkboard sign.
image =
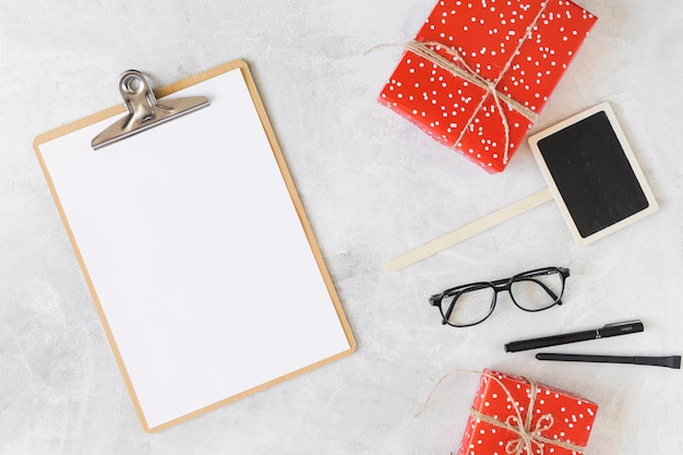
[[523, 199], [522, 201], [517, 201], [505, 208], [493, 212], [492, 214], [487, 215], [483, 218], [463, 226], [462, 228], [456, 229], [451, 234], [446, 234], [445, 236], [440, 237], [436, 240], [432, 240], [431, 242], [426, 243], [422, 247], [418, 247], [415, 250], [408, 251], [407, 253], [391, 260], [384, 266], [384, 270], [387, 272], [395, 272], [405, 268], [408, 265], [415, 264], [416, 262], [423, 260], [424, 258], [431, 256], [432, 254], [443, 251], [448, 247], [453, 247], [454, 244], [462, 242], [463, 240], [469, 239], [470, 237], [474, 237], [479, 232], [483, 232], [484, 230], [493, 226], [498, 226], [503, 221], [506, 221], [517, 215], [522, 215], [523, 213], [530, 211], [531, 208], [538, 207], [539, 205], [550, 200], [552, 200], [552, 193], [548, 188], [546, 188], [544, 190], [541, 190], [538, 193], [534, 193]]

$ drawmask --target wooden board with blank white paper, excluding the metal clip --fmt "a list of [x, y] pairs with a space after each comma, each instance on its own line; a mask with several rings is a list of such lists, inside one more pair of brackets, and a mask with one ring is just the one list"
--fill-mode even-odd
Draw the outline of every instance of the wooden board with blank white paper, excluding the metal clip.
[[209, 106], [97, 151], [123, 107], [34, 141], [148, 432], [356, 349], [247, 63], [156, 93]]

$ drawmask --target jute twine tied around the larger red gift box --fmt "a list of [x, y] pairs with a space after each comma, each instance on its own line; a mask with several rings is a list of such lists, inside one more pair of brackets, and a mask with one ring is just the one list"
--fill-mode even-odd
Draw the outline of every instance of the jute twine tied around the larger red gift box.
[[[423, 59], [436, 64], [438, 67], [441, 67], [444, 70], [450, 71], [454, 75], [469, 83], [472, 83], [486, 91], [484, 96], [482, 96], [481, 100], [479, 101], [479, 105], [472, 111], [472, 115], [469, 117], [469, 119], [467, 120], [463, 129], [460, 130], [460, 133], [457, 140], [455, 141], [456, 146], [460, 143], [460, 141], [465, 136], [465, 133], [475, 121], [477, 113], [482, 108], [483, 103], [487, 99], [489, 94], [491, 94], [491, 96], [493, 97], [493, 101], [495, 103], [496, 110], [501, 116], [501, 123], [505, 132], [505, 152], [503, 155], [503, 164], [506, 165], [507, 160], [510, 159], [510, 123], [507, 122], [507, 118], [505, 117], [505, 111], [503, 110], [503, 106], [501, 105], [501, 99], [503, 99], [511, 108], [513, 108], [514, 110], [519, 112], [522, 116], [524, 116], [527, 120], [535, 122], [538, 119], [538, 113], [536, 113], [534, 110], [529, 109], [528, 107], [513, 99], [512, 97], [499, 92], [498, 84], [499, 82], [501, 82], [501, 80], [503, 79], [507, 70], [512, 67], [512, 62], [515, 56], [517, 56], [517, 53], [519, 52], [519, 49], [522, 48], [522, 45], [527, 40], [527, 38], [534, 32], [536, 24], [540, 20], [541, 15], [546, 11], [546, 8], [548, 7], [549, 3], [550, 3], [549, 0], [541, 3], [541, 8], [536, 14], [536, 16], [534, 17], [534, 21], [527, 26], [526, 33], [519, 38], [519, 40], [517, 41], [517, 46], [515, 47], [515, 50], [511, 53], [511, 57], [505, 62], [505, 65], [499, 72], [498, 77], [495, 77], [495, 80], [493, 81], [487, 80], [486, 77], [481, 76], [477, 71], [475, 71], [471, 67], [469, 67], [465, 62], [460, 53], [457, 51], [457, 49], [455, 49], [452, 46], [446, 46], [438, 41], [416, 41], [416, 40], [412, 40], [406, 45], [403, 45], [407, 50], [410, 50], [417, 56], [422, 57]], [[440, 50], [440, 49], [444, 49], [448, 55], [453, 57], [453, 59], [448, 59], [442, 56], [441, 53], [436, 52], [436, 50]]]

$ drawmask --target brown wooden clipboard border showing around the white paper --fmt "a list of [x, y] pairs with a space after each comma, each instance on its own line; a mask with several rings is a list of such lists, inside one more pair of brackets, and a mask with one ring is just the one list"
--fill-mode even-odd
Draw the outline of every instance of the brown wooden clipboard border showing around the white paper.
[[43, 158], [43, 154], [40, 153], [40, 145], [52, 141], [55, 139], [61, 137], [63, 135], [67, 135], [69, 133], [72, 133], [74, 131], [81, 130], [85, 127], [89, 127], [91, 124], [97, 123], [101, 120], [106, 120], [110, 117], [115, 117], [117, 115], [121, 115], [125, 111], [125, 108], [123, 106], [113, 106], [110, 107], [108, 109], [101, 110], [99, 112], [93, 113], [88, 117], [85, 117], [83, 119], [76, 120], [74, 122], [64, 124], [62, 127], [59, 127], [57, 129], [50, 130], [48, 132], [45, 132], [43, 134], [39, 134], [35, 137], [34, 142], [33, 142], [33, 148], [34, 152], [36, 153], [36, 156], [38, 158], [38, 163], [40, 165], [40, 169], [43, 170], [43, 173], [45, 176], [45, 179], [47, 181], [47, 184], [50, 189], [50, 193], [52, 194], [52, 199], [55, 200], [55, 204], [57, 206], [57, 211], [59, 212], [59, 216], [62, 220], [62, 224], [64, 225], [64, 228], [67, 229], [67, 235], [69, 237], [69, 241], [71, 242], [71, 247], [74, 250], [74, 253], [76, 255], [76, 260], [79, 262], [79, 266], [81, 267], [81, 272], [83, 273], [84, 279], [86, 282], [87, 288], [91, 292], [91, 296], [93, 298], [93, 301], [95, 303], [95, 309], [97, 311], [97, 315], [103, 324], [103, 327], [105, 330], [105, 334], [107, 336], [107, 340], [109, 342], [109, 346], [111, 347], [111, 350], [113, 352], [113, 356], [116, 358], [116, 362], [119, 367], [119, 370], [121, 372], [121, 375], [123, 376], [123, 382], [125, 384], [125, 388], [128, 390], [128, 393], [133, 402], [133, 407], [135, 408], [135, 414], [137, 415], [137, 419], [140, 420], [140, 423], [143, 428], [144, 431], [148, 432], [148, 433], [155, 433], [155, 432], [159, 432], [163, 430], [166, 430], [170, 427], [173, 427], [178, 423], [181, 423], [183, 421], [190, 420], [194, 417], [199, 417], [200, 415], [206, 414], [211, 410], [217, 409], [221, 406], [225, 406], [227, 404], [237, 402], [241, 398], [244, 398], [249, 395], [252, 395], [254, 393], [261, 392], [263, 390], [266, 390], [268, 387], [272, 387], [276, 384], [279, 384], [281, 382], [285, 382], [289, 379], [292, 379], [295, 376], [298, 376], [300, 374], [307, 373], [309, 371], [315, 370], [316, 368], [323, 367], [325, 364], [332, 363], [333, 361], [336, 361], [338, 359], [342, 359], [344, 357], [347, 357], [349, 355], [351, 355], [352, 352], [356, 351], [357, 348], [357, 344], [356, 344], [356, 339], [354, 337], [354, 334], [351, 332], [351, 327], [348, 323], [348, 320], [346, 318], [346, 314], [344, 313], [344, 309], [342, 308], [342, 303], [339, 300], [339, 297], [337, 295], [337, 291], [334, 287], [334, 283], [332, 280], [332, 276], [329, 275], [329, 271], [327, 270], [327, 266], [325, 265], [325, 261], [323, 259], [323, 255], [321, 253], [320, 247], [317, 244], [317, 241], [315, 240], [315, 236], [313, 235], [313, 230], [311, 228], [311, 225], [308, 220], [308, 217], [305, 215], [305, 211], [303, 209], [303, 204], [301, 203], [301, 199], [299, 197], [299, 193], [297, 192], [297, 189], [295, 187], [293, 183], [293, 179], [291, 178], [291, 173], [289, 172], [289, 168], [287, 167], [287, 164], [285, 161], [285, 157], [283, 155], [283, 152], [279, 147], [279, 144], [277, 143], [277, 139], [275, 136], [275, 131], [273, 130], [273, 127], [268, 120], [268, 117], [266, 115], [265, 111], [265, 107], [263, 105], [263, 101], [261, 100], [261, 97], [259, 95], [259, 91], [256, 88], [256, 84], [254, 83], [254, 80], [251, 75], [251, 72], [249, 71], [249, 65], [247, 64], [247, 62], [244, 60], [232, 60], [230, 62], [220, 64], [218, 67], [215, 67], [211, 70], [206, 70], [202, 73], [195, 74], [195, 75], [191, 75], [189, 77], [182, 79], [180, 81], [173, 82], [169, 85], [165, 85], [158, 89], [155, 91], [155, 94], [158, 98], [161, 98], [164, 96], [168, 96], [171, 95], [180, 89], [190, 87], [192, 85], [199, 84], [201, 82], [207, 81], [209, 79], [216, 77], [220, 74], [227, 73], [229, 71], [232, 71], [235, 69], [240, 69], [242, 76], [244, 77], [244, 81], [247, 83], [247, 87], [249, 88], [249, 93], [251, 95], [252, 101], [254, 103], [254, 107], [256, 108], [256, 111], [259, 113], [259, 118], [261, 120], [261, 124], [266, 133], [266, 136], [268, 139], [268, 143], [271, 144], [271, 148], [273, 151], [273, 155], [277, 161], [277, 166], [280, 170], [280, 173], [283, 176], [283, 179], [285, 181], [285, 184], [287, 187], [287, 190], [289, 192], [289, 196], [291, 197], [291, 201], [295, 205], [295, 208], [297, 211], [297, 215], [299, 216], [299, 221], [301, 223], [301, 227], [303, 228], [303, 231], [305, 234], [305, 237], [309, 241], [309, 246], [311, 247], [311, 251], [313, 252], [313, 256], [315, 258], [315, 262], [317, 264], [317, 267], [321, 272], [323, 282], [325, 283], [325, 286], [327, 288], [327, 291], [329, 294], [329, 297], [332, 299], [335, 312], [337, 314], [337, 318], [339, 319], [339, 322], [342, 324], [342, 327], [344, 330], [344, 333], [346, 335], [347, 342], [349, 344], [349, 349], [344, 350], [342, 352], [338, 352], [334, 356], [331, 356], [326, 359], [323, 360], [319, 360], [317, 362], [314, 362], [310, 366], [303, 367], [299, 370], [295, 370], [290, 373], [287, 373], [283, 376], [276, 378], [274, 380], [271, 380], [266, 383], [260, 384], [255, 387], [249, 388], [244, 392], [241, 392], [239, 394], [236, 394], [233, 396], [227, 397], [220, 402], [214, 403], [209, 406], [206, 406], [204, 408], [194, 410], [190, 414], [187, 414], [184, 416], [180, 416], [173, 420], [170, 420], [168, 422], [161, 423], [159, 426], [153, 427], [151, 428], [149, 424], [147, 423], [147, 420], [144, 416], [144, 412], [142, 410], [142, 406], [140, 405], [140, 400], [137, 398], [137, 394], [135, 393], [135, 390], [133, 387], [133, 384], [131, 382], [130, 375], [128, 373], [128, 370], [125, 369], [125, 364], [123, 363], [123, 359], [121, 357], [121, 354], [119, 351], [119, 348], [116, 344], [116, 340], [113, 338], [113, 334], [111, 333], [111, 327], [109, 326], [109, 323], [107, 321], [107, 318], [105, 315], [104, 309], [101, 307], [101, 303], [99, 301], [99, 298], [97, 296], [97, 292], [95, 290], [95, 286], [93, 285], [93, 280], [91, 279], [89, 273], [87, 272], [87, 267], [85, 266], [85, 261], [83, 260], [83, 256], [81, 254], [81, 250], [79, 249], [79, 246], [76, 243], [75, 237], [73, 235], [73, 231], [71, 229], [71, 226], [69, 225], [69, 220], [67, 218], [67, 215], [64, 213], [63, 206], [61, 204], [61, 201], [59, 200], [59, 195], [57, 194], [57, 190], [55, 188], [55, 184], [52, 182], [52, 178], [50, 177], [50, 173], [47, 169], [47, 166], [45, 164], [45, 159]]

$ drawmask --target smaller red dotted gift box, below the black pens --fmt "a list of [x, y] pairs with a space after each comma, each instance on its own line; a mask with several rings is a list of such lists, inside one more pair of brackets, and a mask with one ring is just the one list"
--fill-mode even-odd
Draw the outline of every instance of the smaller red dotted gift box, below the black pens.
[[[598, 411], [598, 405], [578, 395], [544, 384], [536, 384], [532, 397], [530, 381], [499, 371], [484, 370], [475, 396], [472, 409], [493, 419], [498, 424], [470, 414], [458, 455], [546, 454], [575, 455], [584, 453]], [[512, 400], [508, 397], [512, 398]], [[531, 403], [531, 399], [534, 402]], [[531, 416], [527, 415], [531, 409]], [[517, 428], [520, 418], [529, 435], [525, 439]], [[561, 441], [567, 446], [548, 440]], [[570, 445], [571, 444], [571, 445]]]

